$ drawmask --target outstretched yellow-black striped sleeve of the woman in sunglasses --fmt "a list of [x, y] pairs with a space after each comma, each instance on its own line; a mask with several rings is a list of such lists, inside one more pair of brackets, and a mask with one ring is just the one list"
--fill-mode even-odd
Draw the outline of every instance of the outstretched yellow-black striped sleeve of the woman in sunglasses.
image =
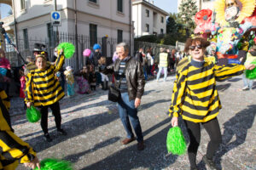
[[244, 65], [229, 64], [229, 65], [214, 65], [213, 71], [217, 81], [224, 81], [229, 77], [241, 75], [245, 70]]

